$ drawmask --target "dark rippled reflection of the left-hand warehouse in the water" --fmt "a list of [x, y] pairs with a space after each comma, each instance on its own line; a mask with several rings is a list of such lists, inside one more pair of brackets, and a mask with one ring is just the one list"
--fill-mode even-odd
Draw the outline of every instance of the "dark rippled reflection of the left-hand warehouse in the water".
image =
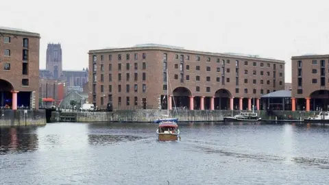
[[0, 155], [36, 151], [38, 136], [36, 127], [0, 128]]

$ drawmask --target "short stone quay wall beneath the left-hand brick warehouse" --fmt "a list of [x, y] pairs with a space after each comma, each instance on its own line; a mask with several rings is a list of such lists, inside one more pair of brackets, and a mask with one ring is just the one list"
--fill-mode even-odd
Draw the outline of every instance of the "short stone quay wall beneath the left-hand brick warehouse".
[[0, 126], [46, 125], [45, 110], [0, 110]]

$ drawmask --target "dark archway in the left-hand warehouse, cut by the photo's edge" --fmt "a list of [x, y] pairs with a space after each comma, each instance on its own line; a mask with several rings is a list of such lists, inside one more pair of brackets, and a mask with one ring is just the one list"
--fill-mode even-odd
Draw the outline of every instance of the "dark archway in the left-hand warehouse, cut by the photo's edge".
[[0, 79], [0, 107], [5, 108], [5, 106], [12, 107], [12, 93], [14, 90], [10, 82]]

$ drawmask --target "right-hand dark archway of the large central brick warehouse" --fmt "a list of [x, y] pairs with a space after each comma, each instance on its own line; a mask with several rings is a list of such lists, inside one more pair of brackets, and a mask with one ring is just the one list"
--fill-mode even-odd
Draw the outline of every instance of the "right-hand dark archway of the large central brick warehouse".
[[221, 88], [215, 93], [215, 109], [217, 110], [229, 110], [230, 109], [230, 97], [232, 97], [229, 90]]

